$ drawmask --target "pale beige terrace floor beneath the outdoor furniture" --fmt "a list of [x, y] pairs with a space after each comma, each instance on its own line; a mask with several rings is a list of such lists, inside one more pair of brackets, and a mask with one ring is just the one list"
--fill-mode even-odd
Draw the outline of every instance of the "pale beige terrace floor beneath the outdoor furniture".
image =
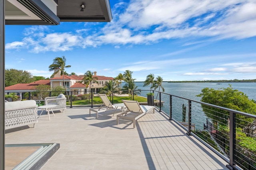
[[50, 120], [44, 112], [35, 128], [6, 131], [5, 143], [60, 143], [41, 170], [227, 169], [224, 160], [162, 113], [147, 113], [133, 129], [129, 121], [116, 125], [118, 113], [100, 111], [95, 119], [89, 108], [54, 111]]

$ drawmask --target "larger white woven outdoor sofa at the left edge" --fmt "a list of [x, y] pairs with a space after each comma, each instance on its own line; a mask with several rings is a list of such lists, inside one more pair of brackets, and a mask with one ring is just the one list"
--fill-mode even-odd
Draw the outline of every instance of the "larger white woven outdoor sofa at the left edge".
[[5, 129], [38, 123], [34, 100], [5, 102]]

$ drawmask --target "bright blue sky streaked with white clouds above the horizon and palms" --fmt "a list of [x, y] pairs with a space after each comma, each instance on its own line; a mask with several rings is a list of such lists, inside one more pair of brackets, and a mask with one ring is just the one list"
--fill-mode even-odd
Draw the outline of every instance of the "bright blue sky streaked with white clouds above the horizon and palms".
[[50, 77], [66, 72], [144, 81], [256, 79], [256, 0], [110, 0], [108, 23], [6, 25], [5, 67]]

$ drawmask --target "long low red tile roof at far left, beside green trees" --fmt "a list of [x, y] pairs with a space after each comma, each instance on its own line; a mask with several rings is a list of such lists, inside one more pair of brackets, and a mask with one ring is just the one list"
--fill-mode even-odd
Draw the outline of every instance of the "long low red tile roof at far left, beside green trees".
[[8, 86], [5, 90], [35, 90], [36, 86], [40, 84], [47, 84], [50, 86], [50, 80], [38, 80], [32, 83], [19, 83], [12, 86]]

